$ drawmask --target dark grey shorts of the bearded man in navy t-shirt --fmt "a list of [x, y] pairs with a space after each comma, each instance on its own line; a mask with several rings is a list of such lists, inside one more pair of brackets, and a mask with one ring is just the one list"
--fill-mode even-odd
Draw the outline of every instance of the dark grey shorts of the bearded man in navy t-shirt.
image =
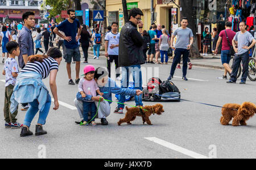
[[71, 63], [72, 57], [73, 57], [73, 61], [80, 61], [81, 55], [80, 55], [79, 47], [74, 49], [65, 47], [65, 52], [63, 56], [63, 58], [65, 59], [65, 62]]

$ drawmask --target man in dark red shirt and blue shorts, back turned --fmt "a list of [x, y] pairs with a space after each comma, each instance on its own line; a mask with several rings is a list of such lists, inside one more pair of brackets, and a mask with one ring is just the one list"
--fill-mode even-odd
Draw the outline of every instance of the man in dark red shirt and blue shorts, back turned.
[[232, 55], [232, 40], [234, 38], [234, 36], [236, 35], [236, 32], [232, 31], [232, 22], [226, 22], [225, 23], [225, 30], [222, 30], [220, 32], [220, 34], [218, 35], [218, 41], [216, 44], [216, 49], [215, 49], [215, 53], [218, 53], [218, 47], [221, 45], [221, 63], [223, 65], [223, 67], [225, 68], [224, 74], [223, 74], [223, 78], [224, 79], [228, 79], [228, 77], [226, 76], [227, 73], [229, 73], [229, 75], [232, 72], [232, 69], [229, 66], [229, 61], [231, 59], [231, 55]]

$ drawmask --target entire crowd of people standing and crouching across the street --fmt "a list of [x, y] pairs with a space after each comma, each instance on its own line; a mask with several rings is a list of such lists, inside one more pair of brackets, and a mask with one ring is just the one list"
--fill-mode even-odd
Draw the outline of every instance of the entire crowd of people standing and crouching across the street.
[[[88, 63], [88, 48], [93, 45], [94, 57], [99, 59], [100, 46], [103, 42], [100, 30], [96, 27], [93, 31], [85, 25], [81, 25], [75, 17], [75, 10], [68, 9], [68, 19], [59, 24], [52, 23], [51, 26], [37, 27], [37, 34], [32, 37], [32, 28], [35, 27], [35, 14], [28, 11], [22, 15], [23, 25], [21, 30], [14, 27], [13, 31], [7, 30], [6, 26], [2, 26], [1, 43], [3, 55], [8, 53], [2, 74], [6, 76], [5, 84], [5, 106], [4, 117], [6, 128], [22, 128], [20, 136], [28, 136], [33, 133], [30, 131], [31, 121], [35, 114], [39, 111], [39, 119], [36, 125], [35, 135], [47, 134], [43, 130], [46, 118], [51, 106], [51, 96], [44, 85], [42, 79], [49, 76], [49, 86], [51, 88], [54, 99], [54, 110], [59, 108], [59, 100], [57, 97], [56, 76], [59, 71], [59, 65], [62, 58], [65, 59], [68, 84], [78, 84], [77, 95], [74, 100], [75, 106], [80, 115], [80, 120], [76, 121], [80, 125], [93, 125], [98, 110], [98, 118], [101, 119], [102, 125], [108, 125], [106, 117], [110, 114], [110, 105], [112, 103], [112, 93], [119, 94], [118, 106], [114, 113], [123, 113], [125, 96], [134, 96], [136, 106], [143, 106], [142, 102], [142, 72], [141, 65], [148, 64], [167, 64], [168, 51], [174, 51], [174, 59], [171, 65], [168, 80], [174, 77], [175, 69], [179, 67], [181, 56], [183, 56], [183, 77], [187, 81], [187, 67], [192, 67], [189, 61], [189, 50], [193, 44], [193, 33], [188, 28], [189, 20], [181, 18], [181, 27], [177, 28], [172, 36], [164, 28], [164, 26], [152, 24], [149, 31], [143, 30], [143, 22], [141, 17], [143, 13], [140, 9], [134, 8], [130, 10], [129, 21], [118, 32], [118, 23], [113, 22], [108, 27], [105, 35], [105, 57], [107, 60], [106, 68], [95, 68]], [[232, 25], [232, 24], [231, 24]], [[246, 31], [246, 23], [240, 23], [239, 32], [235, 33], [230, 30], [230, 22], [226, 22], [226, 30], [213, 34], [209, 34], [208, 29], [204, 32], [204, 52], [207, 53], [207, 47], [211, 38], [216, 42], [216, 50], [222, 42], [221, 61], [225, 67], [224, 78], [226, 74], [230, 74], [228, 83], [236, 82], [236, 74], [238, 67], [242, 61], [243, 74], [240, 84], [245, 84], [247, 71], [249, 49], [254, 47], [256, 43], [253, 36]], [[16, 30], [16, 31], [15, 31]], [[16, 33], [15, 33], [16, 32]], [[14, 36], [18, 36], [15, 41]], [[174, 45], [174, 39], [176, 43]], [[35, 38], [35, 42], [34, 39]], [[48, 49], [49, 42], [57, 42], [57, 47]], [[42, 51], [42, 43], [44, 44], [44, 52]], [[80, 44], [84, 52], [84, 63], [86, 64], [83, 71], [84, 75], [80, 79]], [[249, 45], [250, 44], [250, 45]], [[52, 45], [50, 45], [52, 46]], [[63, 52], [60, 51], [63, 48]], [[36, 49], [36, 51], [35, 51]], [[234, 49], [235, 60], [233, 70], [229, 67], [230, 57]], [[42, 54], [38, 55], [37, 53]], [[18, 56], [18, 63], [15, 60]], [[158, 58], [160, 56], [160, 62]], [[164, 59], [165, 56], [165, 59]], [[3, 56], [4, 57], [4, 56]], [[155, 62], [153, 61], [155, 57]], [[76, 79], [72, 80], [71, 63], [76, 63]], [[115, 63], [115, 68], [121, 67], [121, 73], [115, 72], [115, 78], [121, 80], [121, 86], [110, 78], [110, 64]], [[178, 65], [178, 66], [177, 66]], [[180, 67], [179, 67], [180, 68]], [[129, 79], [133, 77], [134, 89], [129, 89]], [[23, 94], [26, 94], [24, 97]], [[106, 100], [104, 100], [106, 99]], [[40, 101], [40, 102], [39, 102]], [[16, 122], [18, 114], [18, 104], [22, 105], [22, 110], [27, 111], [23, 124]], [[98, 109], [97, 107], [98, 106]]]

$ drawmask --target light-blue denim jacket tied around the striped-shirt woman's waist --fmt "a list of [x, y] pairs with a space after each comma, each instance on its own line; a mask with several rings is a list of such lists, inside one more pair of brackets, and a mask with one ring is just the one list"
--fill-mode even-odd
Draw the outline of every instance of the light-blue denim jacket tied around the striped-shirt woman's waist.
[[38, 99], [38, 109], [43, 111], [49, 91], [43, 84], [42, 76], [36, 72], [19, 73], [11, 96], [10, 111], [13, 114], [19, 103], [30, 103]]

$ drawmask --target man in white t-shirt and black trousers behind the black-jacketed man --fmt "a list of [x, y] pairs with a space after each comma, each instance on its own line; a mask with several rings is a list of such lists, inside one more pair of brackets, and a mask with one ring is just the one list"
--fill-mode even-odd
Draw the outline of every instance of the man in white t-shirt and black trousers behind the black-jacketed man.
[[[119, 48], [119, 37], [120, 33], [117, 32], [118, 30], [118, 23], [113, 22], [112, 23], [112, 31], [109, 32], [105, 37], [105, 57], [107, 57], [108, 60], [108, 71], [109, 71], [109, 77], [110, 77], [110, 65], [113, 63], [113, 60], [115, 61], [115, 69], [118, 68], [118, 48]], [[117, 77], [117, 80], [121, 80], [119, 77], [120, 74], [115, 74]]]

